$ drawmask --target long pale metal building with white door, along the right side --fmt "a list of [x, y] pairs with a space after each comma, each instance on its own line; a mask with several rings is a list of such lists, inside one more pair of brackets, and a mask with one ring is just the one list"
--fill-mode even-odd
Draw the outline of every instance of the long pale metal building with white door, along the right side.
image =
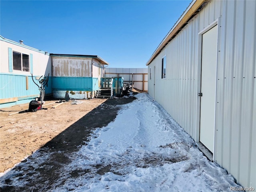
[[255, 63], [256, 1], [194, 0], [146, 64], [150, 96], [238, 184], [254, 188]]

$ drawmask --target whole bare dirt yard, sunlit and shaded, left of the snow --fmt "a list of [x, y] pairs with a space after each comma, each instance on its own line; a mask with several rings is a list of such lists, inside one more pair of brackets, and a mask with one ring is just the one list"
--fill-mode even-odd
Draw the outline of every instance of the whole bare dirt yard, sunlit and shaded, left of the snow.
[[[136, 93], [135, 93], [136, 94]], [[33, 166], [24, 168], [24, 175], [17, 175], [18, 179], [28, 174], [24, 179], [26, 187], [10, 186], [9, 180], [4, 181], [5, 187], [0, 191], [33, 191], [50, 190], [52, 184], [61, 174], [59, 170], [71, 160], [69, 154], [76, 152], [86, 144], [91, 132], [96, 128], [107, 126], [116, 118], [120, 105], [132, 102], [135, 97], [118, 99], [79, 100], [81, 104], [66, 102], [56, 108], [56, 100], [46, 101], [44, 108], [37, 112], [13, 114], [28, 109], [28, 104], [3, 108], [0, 111], [0, 172], [9, 168], [23, 170], [23, 163], [29, 161], [38, 163], [32, 155], [40, 150], [41, 159], [44, 154], [50, 154], [50, 159], [40, 163], [39, 169]], [[50, 104], [53, 103], [53, 104]], [[49, 104], [49, 105], [47, 105]], [[46, 106], [47, 105], [47, 106]], [[16, 164], [16, 166], [14, 166]], [[30, 170], [31, 168], [31, 170]], [[99, 167], [99, 173], [106, 172]], [[36, 180], [31, 180], [29, 174], [39, 174]], [[82, 173], [71, 173], [76, 176]], [[40, 184], [39, 184], [40, 183]]]

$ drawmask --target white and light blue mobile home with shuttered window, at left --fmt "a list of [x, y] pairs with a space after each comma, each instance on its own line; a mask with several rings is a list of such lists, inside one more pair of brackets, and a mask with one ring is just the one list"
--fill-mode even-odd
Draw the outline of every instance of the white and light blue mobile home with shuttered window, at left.
[[[34, 77], [51, 76], [52, 63], [47, 52], [0, 36], [0, 108], [27, 103], [40, 91]], [[34, 78], [35, 80], [35, 78]], [[35, 80], [36, 81], [36, 80]], [[38, 83], [39, 84], [39, 83]], [[46, 94], [51, 94], [49, 79]]]

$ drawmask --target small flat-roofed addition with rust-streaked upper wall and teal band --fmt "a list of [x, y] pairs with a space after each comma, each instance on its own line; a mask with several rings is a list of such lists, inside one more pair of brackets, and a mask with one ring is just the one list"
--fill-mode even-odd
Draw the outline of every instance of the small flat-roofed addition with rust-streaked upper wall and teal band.
[[74, 99], [93, 98], [100, 89], [104, 65], [97, 55], [50, 54], [52, 58], [52, 92], [64, 98], [66, 92]]

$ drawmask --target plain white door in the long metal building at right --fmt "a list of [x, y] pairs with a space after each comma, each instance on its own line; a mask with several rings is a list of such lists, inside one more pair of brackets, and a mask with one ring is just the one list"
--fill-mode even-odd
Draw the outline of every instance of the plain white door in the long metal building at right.
[[202, 34], [200, 142], [211, 152], [215, 126], [217, 33], [218, 27], [214, 26]]

